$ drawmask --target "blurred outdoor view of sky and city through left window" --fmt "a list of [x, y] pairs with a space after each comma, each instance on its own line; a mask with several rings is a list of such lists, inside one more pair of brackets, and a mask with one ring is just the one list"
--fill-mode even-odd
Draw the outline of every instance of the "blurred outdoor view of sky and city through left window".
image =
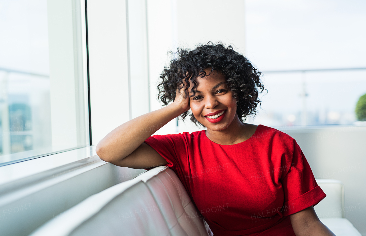
[[51, 146], [46, 1], [0, 1], [1, 154]]

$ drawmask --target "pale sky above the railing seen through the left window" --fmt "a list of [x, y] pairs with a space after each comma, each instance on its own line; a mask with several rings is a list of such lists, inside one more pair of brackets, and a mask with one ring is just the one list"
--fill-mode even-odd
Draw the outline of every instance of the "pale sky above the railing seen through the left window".
[[46, 0], [0, 0], [0, 67], [49, 74]]

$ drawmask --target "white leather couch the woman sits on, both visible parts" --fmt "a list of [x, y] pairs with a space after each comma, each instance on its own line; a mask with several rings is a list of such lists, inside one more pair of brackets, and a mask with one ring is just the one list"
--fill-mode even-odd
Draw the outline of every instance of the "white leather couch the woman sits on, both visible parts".
[[[317, 206], [320, 220], [337, 236], [361, 236], [344, 218], [340, 181], [318, 179], [327, 197]], [[182, 183], [166, 166], [94, 194], [48, 221], [31, 236], [212, 236]]]

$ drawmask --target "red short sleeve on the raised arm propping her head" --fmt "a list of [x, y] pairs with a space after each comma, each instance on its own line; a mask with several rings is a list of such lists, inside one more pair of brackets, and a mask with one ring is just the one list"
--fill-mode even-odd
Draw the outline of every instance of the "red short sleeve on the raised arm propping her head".
[[176, 170], [180, 166], [180, 159], [184, 156], [185, 142], [181, 134], [178, 135], [154, 135], [145, 140], [145, 143], [154, 148], [168, 162], [168, 167]]

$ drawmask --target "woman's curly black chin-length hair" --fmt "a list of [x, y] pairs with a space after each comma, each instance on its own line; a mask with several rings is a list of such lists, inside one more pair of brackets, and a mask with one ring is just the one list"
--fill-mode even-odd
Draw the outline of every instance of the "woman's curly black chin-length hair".
[[[172, 53], [171, 51], [169, 53]], [[183, 81], [187, 85], [193, 84], [191, 90], [194, 96], [195, 88], [197, 87], [197, 77], [206, 76], [205, 69], [211, 69], [211, 72], [220, 71], [224, 76], [233, 92], [233, 97], [236, 99], [236, 113], [240, 121], [243, 122], [248, 115], [256, 114], [256, 108], [261, 101], [258, 99], [258, 88], [263, 92], [264, 85], [260, 80], [261, 72], [259, 72], [250, 61], [242, 54], [233, 50], [232, 46], [225, 47], [223, 43], [208, 42], [205, 45], [200, 44], [194, 50], [178, 48], [175, 54], [178, 57], [170, 61], [169, 66], [165, 66], [160, 75], [161, 83], [157, 86], [159, 91], [158, 99], [164, 105], [174, 101], [177, 89], [183, 88]], [[188, 93], [187, 86], [185, 88]], [[188, 115], [188, 111], [180, 115], [182, 120]], [[197, 126], [199, 123], [193, 114], [190, 114], [190, 119]], [[198, 124], [197, 124], [198, 123]]]

